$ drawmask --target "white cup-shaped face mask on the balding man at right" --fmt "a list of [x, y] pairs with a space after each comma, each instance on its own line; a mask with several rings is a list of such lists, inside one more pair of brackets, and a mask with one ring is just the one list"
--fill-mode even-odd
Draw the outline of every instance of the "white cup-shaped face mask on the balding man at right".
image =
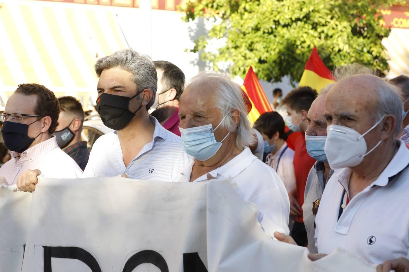
[[364, 136], [378, 126], [385, 116], [386, 114], [362, 135], [346, 126], [328, 126], [324, 151], [331, 169], [357, 166], [366, 155], [377, 148], [382, 141], [379, 141], [371, 150], [366, 152]]

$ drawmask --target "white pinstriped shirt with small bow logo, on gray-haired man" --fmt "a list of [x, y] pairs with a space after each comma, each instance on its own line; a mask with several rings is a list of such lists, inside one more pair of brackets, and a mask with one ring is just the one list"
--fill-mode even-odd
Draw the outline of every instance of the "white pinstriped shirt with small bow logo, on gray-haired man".
[[[92, 146], [90, 159], [82, 177], [115, 177], [123, 173], [132, 179], [175, 181], [178, 170], [191, 157], [182, 148], [182, 139], [166, 130], [155, 117], [152, 142], [125, 167], [117, 132], [102, 135]], [[135, 142], [139, 139], [135, 137]]]

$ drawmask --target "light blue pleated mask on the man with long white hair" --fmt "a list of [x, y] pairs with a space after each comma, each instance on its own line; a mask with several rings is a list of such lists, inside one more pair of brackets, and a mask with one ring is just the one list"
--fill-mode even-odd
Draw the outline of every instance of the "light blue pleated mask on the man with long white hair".
[[[223, 117], [220, 124], [222, 124], [226, 117], [227, 115]], [[222, 142], [230, 134], [230, 132], [227, 133], [226, 137], [224, 137], [221, 142], [217, 142], [213, 132], [220, 126], [220, 124], [218, 124], [214, 130], [211, 124], [196, 126], [193, 128], [179, 127], [183, 150], [199, 161], [206, 161], [213, 157], [222, 146]]]

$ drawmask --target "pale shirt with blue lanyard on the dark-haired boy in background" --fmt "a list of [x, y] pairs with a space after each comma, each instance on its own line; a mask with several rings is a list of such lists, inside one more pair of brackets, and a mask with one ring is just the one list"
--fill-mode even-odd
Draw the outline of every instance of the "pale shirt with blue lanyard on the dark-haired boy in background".
[[290, 192], [295, 187], [293, 159], [294, 150], [289, 148], [285, 142], [275, 154], [270, 153], [265, 158], [265, 164], [276, 170], [277, 174], [283, 180], [287, 192]]

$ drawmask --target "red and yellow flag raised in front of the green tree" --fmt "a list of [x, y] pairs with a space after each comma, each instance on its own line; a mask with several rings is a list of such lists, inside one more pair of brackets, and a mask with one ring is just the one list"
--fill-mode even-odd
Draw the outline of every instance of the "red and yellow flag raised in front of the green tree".
[[319, 57], [317, 48], [314, 47], [307, 60], [299, 86], [310, 86], [320, 91], [330, 83], [335, 83], [332, 74], [321, 60], [321, 57]]

